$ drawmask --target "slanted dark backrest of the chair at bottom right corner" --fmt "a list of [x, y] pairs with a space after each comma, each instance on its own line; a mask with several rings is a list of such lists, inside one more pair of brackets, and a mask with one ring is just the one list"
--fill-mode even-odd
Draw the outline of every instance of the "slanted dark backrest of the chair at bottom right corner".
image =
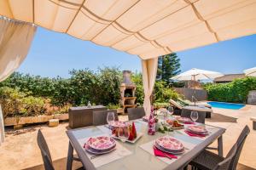
[[241, 150], [243, 147], [243, 144], [245, 143], [245, 140], [247, 139], [247, 135], [250, 133], [250, 128], [248, 126], [245, 126], [238, 139], [236, 140], [236, 145], [237, 145], [237, 150], [236, 150], [236, 156], [232, 159], [231, 163], [230, 163], [230, 169], [231, 170], [236, 170], [236, 166], [239, 160], [239, 157], [241, 155]]

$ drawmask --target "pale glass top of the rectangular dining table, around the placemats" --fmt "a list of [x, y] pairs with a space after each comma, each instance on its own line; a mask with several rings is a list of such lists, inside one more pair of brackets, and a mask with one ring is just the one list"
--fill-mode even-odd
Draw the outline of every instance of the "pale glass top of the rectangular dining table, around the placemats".
[[184, 141], [187, 144], [194, 145], [191, 150], [187, 150], [183, 156], [180, 156], [176, 161], [173, 161], [171, 164], [167, 164], [164, 161], [161, 161], [158, 157], [152, 156], [148, 151], [143, 150], [140, 147], [142, 144], [146, 144], [152, 140], [158, 139], [161, 136], [165, 136], [167, 133], [156, 133], [155, 135], [148, 135], [148, 124], [147, 122], [143, 122], [141, 120], [136, 121], [137, 132], [143, 133], [143, 137], [138, 139], [135, 144], [122, 143], [117, 140], [120, 144], [123, 144], [126, 149], [132, 152], [131, 155], [125, 156], [119, 160], [112, 161], [108, 164], [105, 164], [101, 167], [94, 167], [91, 163], [88, 156], [86, 156], [84, 148], [79, 144], [79, 139], [88, 138], [91, 136], [96, 136], [100, 134], [111, 133], [111, 131], [104, 126], [98, 127], [82, 127], [79, 129], [73, 129], [67, 131], [67, 136], [70, 139], [71, 144], [73, 144], [73, 148], [78, 153], [79, 158], [81, 159], [84, 167], [86, 169], [99, 169], [99, 170], [114, 170], [114, 169], [179, 169], [184, 165], [188, 164], [195, 156], [197, 156], [201, 150], [204, 150], [207, 145], [212, 144], [212, 142], [218, 139], [224, 132], [224, 128], [213, 127], [206, 125], [207, 130], [210, 134], [206, 139], [200, 139], [195, 137], [190, 137], [189, 135], [183, 132], [183, 129], [174, 130], [173, 132], [168, 133], [168, 135], [178, 139], [180, 141]]

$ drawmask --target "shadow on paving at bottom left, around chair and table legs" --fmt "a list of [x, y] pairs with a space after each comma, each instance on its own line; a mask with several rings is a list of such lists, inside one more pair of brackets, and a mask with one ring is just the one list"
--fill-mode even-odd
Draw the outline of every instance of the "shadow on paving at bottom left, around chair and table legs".
[[[59, 160], [55, 160], [53, 161], [55, 170], [63, 170], [63, 169], [67, 169], [67, 158], [61, 158]], [[73, 166], [72, 169], [79, 169], [80, 167], [83, 167], [82, 163], [79, 161], [73, 161]], [[27, 167], [23, 170], [44, 170], [44, 164], [41, 165], [37, 165], [34, 167]]]

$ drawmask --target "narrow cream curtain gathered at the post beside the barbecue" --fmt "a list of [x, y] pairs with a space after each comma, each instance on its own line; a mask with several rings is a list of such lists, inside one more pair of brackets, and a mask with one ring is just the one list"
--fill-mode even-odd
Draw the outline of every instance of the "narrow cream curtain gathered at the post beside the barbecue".
[[142, 69], [143, 69], [143, 88], [144, 88], [144, 103], [143, 107], [146, 115], [150, 114], [151, 104], [150, 96], [154, 89], [154, 82], [157, 71], [157, 58], [154, 59], [143, 59]]

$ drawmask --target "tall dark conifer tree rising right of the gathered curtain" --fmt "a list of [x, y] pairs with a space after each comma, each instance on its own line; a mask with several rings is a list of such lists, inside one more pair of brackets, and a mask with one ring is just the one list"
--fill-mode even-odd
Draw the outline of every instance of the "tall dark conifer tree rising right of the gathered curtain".
[[164, 81], [169, 85], [172, 80], [170, 78], [176, 76], [180, 72], [180, 59], [176, 53], [162, 55], [158, 58], [158, 70], [156, 79]]

